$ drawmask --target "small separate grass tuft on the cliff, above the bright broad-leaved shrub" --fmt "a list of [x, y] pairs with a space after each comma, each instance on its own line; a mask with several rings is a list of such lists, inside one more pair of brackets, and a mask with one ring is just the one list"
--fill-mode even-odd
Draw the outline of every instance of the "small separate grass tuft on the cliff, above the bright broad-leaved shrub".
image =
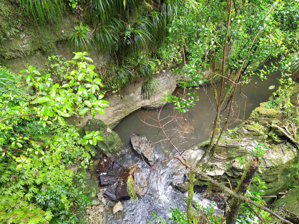
[[75, 31], [70, 34], [68, 39], [68, 46], [70, 52], [91, 51], [95, 44], [94, 38], [90, 33], [88, 26], [77, 26]]

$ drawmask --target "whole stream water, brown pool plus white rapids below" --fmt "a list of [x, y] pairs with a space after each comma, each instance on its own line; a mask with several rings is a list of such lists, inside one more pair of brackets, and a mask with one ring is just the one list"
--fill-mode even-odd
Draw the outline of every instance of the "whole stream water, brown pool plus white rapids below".
[[[270, 65], [271, 61], [266, 63]], [[273, 60], [272, 60], [273, 62]], [[261, 102], [268, 100], [269, 96], [274, 90], [269, 90], [270, 85], [275, 85], [277, 88], [277, 79], [281, 77], [279, 72], [270, 73], [267, 76], [267, 80], [252, 80], [251, 83], [242, 86], [237, 96], [235, 96], [236, 102], [234, 105], [234, 117], [238, 119], [247, 119], [251, 111], [259, 106]], [[180, 152], [187, 148], [196, 145], [209, 137], [211, 124], [214, 120], [215, 114], [215, 99], [213, 99], [212, 89], [209, 86], [202, 86], [197, 90], [197, 96], [199, 101], [196, 102], [196, 106], [190, 109], [189, 113], [179, 114], [178, 116], [187, 119], [189, 124], [193, 128], [189, 128], [188, 131], [193, 133], [186, 133], [185, 139], [175, 139], [173, 142], [177, 145]], [[133, 103], [133, 102], [132, 102]], [[130, 165], [131, 163], [138, 164], [141, 167], [140, 172], [147, 175], [149, 190], [144, 198], [138, 199], [135, 204], [131, 201], [123, 202], [123, 212], [116, 215], [111, 215], [109, 218], [110, 223], [146, 223], [150, 219], [150, 212], [154, 211], [158, 217], [168, 219], [170, 216], [170, 207], [172, 208], [186, 208], [186, 202], [184, 198], [186, 195], [177, 191], [172, 186], [173, 175], [180, 173], [176, 163], [171, 160], [170, 162], [164, 162], [159, 165], [157, 170], [149, 170], [149, 167], [144, 164], [144, 161], [140, 159], [133, 151], [130, 144], [130, 136], [133, 132], [147, 136], [150, 139], [150, 143], [157, 142], [163, 139], [161, 131], [157, 136], [159, 129], [150, 125], [157, 125], [158, 122], [153, 120], [157, 119], [157, 114], [160, 110], [145, 110], [141, 109], [132, 112], [126, 116], [118, 126], [114, 128], [121, 140], [123, 141], [124, 148], [126, 149], [126, 155], [122, 158], [116, 159], [122, 165]], [[161, 110], [160, 119], [173, 115], [173, 106], [168, 104]], [[151, 118], [152, 119], [151, 119]], [[145, 119], [145, 120], [144, 120]], [[145, 124], [142, 120], [149, 123]], [[164, 121], [165, 122], [165, 121]], [[231, 124], [229, 128], [232, 128], [237, 123]], [[166, 129], [176, 128], [173, 122], [170, 122]], [[177, 131], [167, 132], [169, 137], [177, 136]], [[152, 149], [155, 153], [157, 161], [168, 158], [170, 155], [177, 152], [167, 142], [158, 142], [152, 145]], [[202, 201], [201, 195], [196, 194], [194, 200], [200, 203], [207, 203], [207, 200]]]

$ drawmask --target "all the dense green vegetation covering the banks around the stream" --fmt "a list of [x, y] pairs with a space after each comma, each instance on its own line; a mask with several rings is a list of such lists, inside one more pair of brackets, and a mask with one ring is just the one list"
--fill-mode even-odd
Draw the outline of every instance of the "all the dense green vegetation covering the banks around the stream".
[[[108, 126], [94, 120], [80, 136], [65, 117], [103, 114], [109, 106], [103, 100], [106, 90], [121, 96], [121, 90], [136, 82], [142, 82], [141, 97], [151, 99], [163, 89], [154, 73], [180, 63], [183, 67], [173, 73], [180, 74], [184, 91], [176, 96], [165, 92], [164, 101], [188, 112], [198, 100], [191, 87], [208, 83], [216, 115], [206, 153], [196, 167], [188, 167], [187, 211], [171, 209], [170, 223], [282, 223], [284, 212], [264, 207], [263, 180], [253, 172], [252, 184], [242, 186], [251, 164], [259, 170], [268, 149], [262, 142], [255, 142], [248, 157], [238, 158], [246, 169], [235, 191], [213, 182], [230, 192], [225, 216], [216, 216], [213, 206], [194, 209], [192, 198], [198, 172], [207, 169], [232, 119], [237, 88], [252, 78], [263, 80], [270, 71], [282, 72], [278, 90], [252, 116], [284, 114], [281, 123], [267, 125], [298, 148], [298, 105], [291, 99], [295, 82], [290, 77], [291, 71], [299, 70], [298, 0], [0, 0], [0, 12], [0, 53], [6, 59], [36, 50], [55, 55], [59, 41], [66, 41], [74, 56], [51, 56], [38, 69], [19, 68], [21, 75], [0, 66], [1, 223], [85, 223], [91, 198], [82, 183], [95, 154], [92, 146], [108, 154], [117, 152], [121, 142]], [[24, 37], [29, 39], [25, 43]], [[96, 67], [87, 52], [99, 58], [108, 55], [109, 60]], [[263, 65], [274, 57], [281, 60], [271, 68]], [[279, 138], [267, 132], [266, 125], [250, 125], [264, 140]], [[298, 163], [293, 166], [297, 173], [290, 175], [297, 177]], [[134, 188], [131, 174], [130, 178]], [[131, 192], [135, 201], [134, 189]], [[165, 223], [152, 217], [148, 223]]]

